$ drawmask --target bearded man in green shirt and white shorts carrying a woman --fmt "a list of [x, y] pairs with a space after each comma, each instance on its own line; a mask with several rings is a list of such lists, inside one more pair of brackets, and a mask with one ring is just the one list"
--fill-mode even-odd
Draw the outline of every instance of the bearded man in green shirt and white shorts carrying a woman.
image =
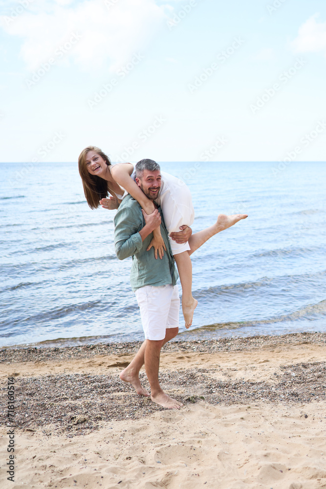
[[[153, 160], [139, 161], [136, 165], [136, 183], [149, 199], [155, 200], [161, 187], [159, 165]], [[121, 372], [120, 378], [130, 382], [138, 394], [149, 396], [139, 380], [139, 371], [145, 363], [152, 401], [166, 408], [179, 409], [183, 404], [165, 393], [158, 381], [161, 348], [178, 333], [180, 305], [176, 285], [178, 275], [161, 208], [147, 215], [138, 202], [128, 195], [119, 206], [114, 225], [117, 257], [123, 260], [132, 256], [130, 283], [138, 301], [146, 338], [131, 363]], [[158, 226], [166, 246], [161, 260], [155, 259], [153, 250], [147, 251], [152, 231]], [[189, 232], [191, 234], [191, 230]]]

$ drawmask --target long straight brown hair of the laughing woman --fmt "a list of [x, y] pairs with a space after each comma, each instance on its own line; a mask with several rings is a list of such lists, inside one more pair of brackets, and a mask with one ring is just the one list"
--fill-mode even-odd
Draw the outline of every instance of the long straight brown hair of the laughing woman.
[[86, 156], [88, 151], [95, 151], [99, 156], [102, 156], [108, 166], [111, 165], [111, 162], [109, 157], [96, 146], [87, 146], [78, 158], [79, 175], [83, 181], [84, 194], [87, 203], [91, 209], [96, 209], [100, 206], [99, 200], [108, 196], [108, 182], [107, 180], [104, 180], [104, 178], [88, 173], [86, 167]]

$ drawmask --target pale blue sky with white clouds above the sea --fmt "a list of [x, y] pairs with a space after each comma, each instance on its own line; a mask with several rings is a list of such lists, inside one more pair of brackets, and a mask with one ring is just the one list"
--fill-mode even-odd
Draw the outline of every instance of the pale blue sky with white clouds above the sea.
[[1, 162], [324, 161], [325, 0], [0, 0]]

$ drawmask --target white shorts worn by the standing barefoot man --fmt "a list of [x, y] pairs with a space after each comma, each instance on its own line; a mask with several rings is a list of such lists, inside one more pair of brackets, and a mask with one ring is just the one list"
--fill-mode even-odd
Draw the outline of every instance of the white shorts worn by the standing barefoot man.
[[146, 285], [135, 290], [135, 295], [146, 339], [164, 339], [165, 330], [179, 327], [180, 299], [177, 285]]

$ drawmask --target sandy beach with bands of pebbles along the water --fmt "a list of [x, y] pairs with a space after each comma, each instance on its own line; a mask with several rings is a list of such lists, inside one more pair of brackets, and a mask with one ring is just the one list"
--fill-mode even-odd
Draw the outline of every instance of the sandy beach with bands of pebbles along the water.
[[326, 488], [325, 333], [167, 344], [161, 385], [184, 403], [173, 411], [118, 378], [138, 347], [0, 351], [1, 488]]

